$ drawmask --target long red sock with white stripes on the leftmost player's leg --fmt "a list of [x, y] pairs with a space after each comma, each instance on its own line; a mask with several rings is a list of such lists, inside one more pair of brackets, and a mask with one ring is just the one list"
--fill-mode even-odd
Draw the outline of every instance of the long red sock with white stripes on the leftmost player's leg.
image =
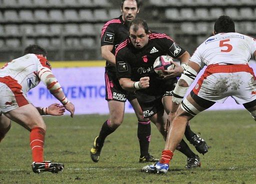
[[30, 131], [30, 147], [32, 151], [32, 160], [35, 162], [43, 161], [43, 144], [45, 130], [41, 127], [34, 127]]

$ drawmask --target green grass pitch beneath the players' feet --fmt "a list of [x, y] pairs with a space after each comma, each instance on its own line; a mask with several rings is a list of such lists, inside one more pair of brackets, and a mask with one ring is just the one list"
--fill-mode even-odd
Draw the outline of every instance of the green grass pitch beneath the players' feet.
[[[200, 155], [201, 167], [185, 169], [185, 156], [175, 151], [170, 172], [160, 175], [140, 172], [145, 163], [138, 163], [134, 114], [125, 114], [123, 124], [107, 137], [99, 162], [91, 161], [92, 140], [106, 118], [96, 114], [44, 117], [45, 159], [65, 164], [58, 174], [32, 172], [29, 133], [12, 123], [0, 143], [0, 183], [256, 183], [256, 123], [245, 110], [197, 115], [191, 128], [210, 147]], [[159, 157], [164, 142], [151, 127], [150, 153]]]

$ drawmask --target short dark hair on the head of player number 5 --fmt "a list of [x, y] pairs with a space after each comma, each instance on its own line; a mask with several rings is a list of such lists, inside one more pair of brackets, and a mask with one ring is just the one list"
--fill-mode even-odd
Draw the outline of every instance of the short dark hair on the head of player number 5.
[[234, 21], [227, 15], [219, 16], [214, 23], [215, 33], [220, 32], [235, 32]]

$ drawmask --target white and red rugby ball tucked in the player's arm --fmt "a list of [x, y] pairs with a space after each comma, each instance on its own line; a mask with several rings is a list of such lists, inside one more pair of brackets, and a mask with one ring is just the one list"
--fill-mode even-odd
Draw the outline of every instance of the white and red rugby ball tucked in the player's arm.
[[172, 61], [172, 58], [169, 55], [160, 55], [154, 60], [153, 68], [154, 71], [160, 75], [164, 74], [164, 70], [171, 70], [174, 69], [175, 65], [172, 64], [170, 61]]

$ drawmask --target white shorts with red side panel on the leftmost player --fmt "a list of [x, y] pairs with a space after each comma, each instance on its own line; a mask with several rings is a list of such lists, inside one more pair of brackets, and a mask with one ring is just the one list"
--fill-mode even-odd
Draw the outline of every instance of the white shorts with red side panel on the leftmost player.
[[0, 77], [0, 112], [8, 112], [28, 103], [17, 80], [10, 76]]

